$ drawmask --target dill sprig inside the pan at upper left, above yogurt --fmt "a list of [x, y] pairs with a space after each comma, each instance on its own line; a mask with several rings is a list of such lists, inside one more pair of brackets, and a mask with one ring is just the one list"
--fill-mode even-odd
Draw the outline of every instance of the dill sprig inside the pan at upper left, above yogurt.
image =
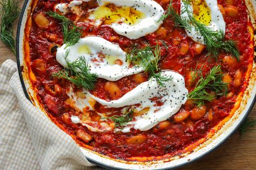
[[75, 45], [82, 35], [80, 27], [76, 26], [70, 19], [59, 15], [57, 12], [49, 11], [46, 13], [49, 16], [60, 20], [62, 24], [63, 43], [66, 44], [66, 47]]

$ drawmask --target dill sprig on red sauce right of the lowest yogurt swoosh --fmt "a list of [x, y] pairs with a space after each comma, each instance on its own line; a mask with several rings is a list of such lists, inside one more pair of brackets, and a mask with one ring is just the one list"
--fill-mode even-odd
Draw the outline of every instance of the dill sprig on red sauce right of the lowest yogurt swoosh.
[[198, 107], [204, 104], [205, 101], [211, 102], [217, 96], [227, 95], [227, 84], [222, 80], [223, 73], [220, 65], [214, 66], [205, 77], [203, 77], [201, 70], [197, 71], [197, 75], [199, 80], [195, 88], [188, 93], [187, 98], [193, 100]]

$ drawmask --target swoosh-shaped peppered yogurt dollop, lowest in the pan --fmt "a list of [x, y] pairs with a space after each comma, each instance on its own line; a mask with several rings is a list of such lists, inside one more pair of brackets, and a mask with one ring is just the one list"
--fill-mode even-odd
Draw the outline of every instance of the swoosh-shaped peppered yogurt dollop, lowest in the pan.
[[[159, 86], [156, 79], [139, 84], [136, 88], [126, 93], [118, 100], [107, 102], [101, 98], [89, 94], [107, 108], [120, 108], [133, 104], [140, 104], [137, 111], [149, 108], [145, 114], [135, 116], [135, 120], [127, 124], [122, 132], [130, 132], [131, 128], [146, 131], [161, 121], [165, 121], [176, 114], [181, 105], [187, 100], [188, 90], [185, 87], [184, 77], [179, 73], [170, 70], [161, 72], [163, 76], [173, 77], [172, 81], [165, 82], [164, 87]], [[159, 98], [161, 105], [157, 105], [152, 98]]]

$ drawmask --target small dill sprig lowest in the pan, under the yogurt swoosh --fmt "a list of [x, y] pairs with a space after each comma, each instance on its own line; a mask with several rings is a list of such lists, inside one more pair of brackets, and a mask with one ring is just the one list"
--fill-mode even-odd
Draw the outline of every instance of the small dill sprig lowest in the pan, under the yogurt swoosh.
[[118, 129], [124, 129], [123, 127], [130, 121], [132, 121], [132, 115], [133, 115], [133, 110], [127, 112], [126, 114], [122, 116], [111, 116], [111, 117], [104, 117], [102, 119], [111, 119], [114, 122], [114, 128]]

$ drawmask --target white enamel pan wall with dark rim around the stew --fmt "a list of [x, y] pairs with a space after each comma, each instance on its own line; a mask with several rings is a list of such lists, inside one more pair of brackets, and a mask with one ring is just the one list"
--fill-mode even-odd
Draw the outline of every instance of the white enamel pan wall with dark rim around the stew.
[[[39, 0], [40, 1], [40, 0]], [[35, 97], [35, 93], [30, 86], [30, 81], [28, 79], [28, 72], [26, 72], [26, 65], [24, 62], [24, 40], [26, 37], [25, 24], [30, 16], [32, 0], [25, 0], [21, 17], [18, 22], [18, 30], [17, 30], [17, 65], [19, 70], [19, 76], [21, 78], [21, 82], [23, 85], [24, 92], [26, 97], [34, 104], [36, 107], [41, 108], [42, 112], [45, 111], [40, 107], [37, 98]], [[246, 5], [248, 8], [248, 12], [250, 13], [251, 20], [256, 19], [255, 11], [256, 11], [256, 1], [255, 0], [246, 0]], [[255, 30], [255, 22], [253, 23]], [[255, 31], [254, 31], [255, 34]], [[255, 58], [254, 58], [255, 59]], [[165, 160], [159, 161], [147, 161], [147, 162], [133, 162], [133, 161], [123, 161], [116, 160], [101, 155], [99, 153], [93, 152], [87, 148], [83, 148], [81, 146], [80, 150], [83, 152], [84, 156], [93, 164], [109, 168], [109, 169], [172, 169], [180, 166], [184, 166], [185, 164], [189, 164], [194, 160], [197, 160], [203, 157], [205, 154], [213, 151], [216, 147], [222, 144], [231, 134], [239, 128], [239, 125], [244, 121], [247, 115], [253, 108], [253, 105], [256, 101], [256, 65], [253, 63], [252, 72], [250, 75], [250, 80], [248, 83], [248, 87], [245, 90], [244, 95], [242, 95], [242, 100], [240, 107], [237, 111], [234, 112], [234, 115], [222, 126], [220, 130], [213, 134], [213, 136], [204, 141], [203, 144], [200, 144], [196, 148], [193, 149], [193, 152], [184, 153], [178, 155], [176, 157], [168, 158]], [[46, 113], [45, 113], [46, 114]], [[136, 149], [136, 148], [134, 148]]]

